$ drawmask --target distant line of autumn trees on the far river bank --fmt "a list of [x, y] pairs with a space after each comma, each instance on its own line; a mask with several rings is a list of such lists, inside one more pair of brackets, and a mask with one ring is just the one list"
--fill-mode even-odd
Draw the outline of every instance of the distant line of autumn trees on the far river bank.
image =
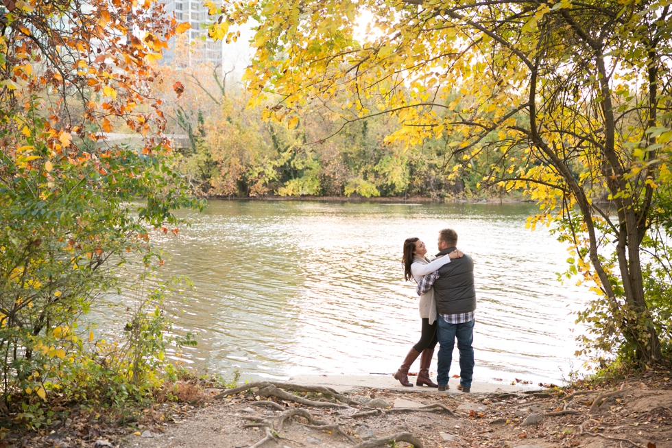
[[[190, 51], [181, 43], [176, 47], [178, 54]], [[281, 123], [266, 119], [261, 108], [248, 108], [249, 95], [221, 66], [174, 64], [161, 70], [171, 80], [157, 86], [169, 102], [169, 133], [189, 136], [190, 147], [178, 150], [178, 166], [202, 196], [474, 199], [500, 192], [479, 185], [480, 172], [492, 160], [473, 161], [479, 166], [466, 171], [453, 156], [458, 140], [450, 136], [420, 145], [388, 141], [400, 124], [387, 115], [343, 126], [305, 111]], [[184, 83], [179, 97], [172, 80]], [[342, 97], [328, 107], [347, 113], [352, 102]]]

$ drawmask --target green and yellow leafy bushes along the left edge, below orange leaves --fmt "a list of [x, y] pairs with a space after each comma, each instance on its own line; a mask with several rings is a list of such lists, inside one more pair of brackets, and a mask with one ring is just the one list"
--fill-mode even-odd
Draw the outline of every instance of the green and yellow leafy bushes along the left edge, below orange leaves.
[[[36, 115], [27, 124], [40, 128], [43, 123]], [[202, 207], [160, 152], [89, 149], [77, 158], [50, 152], [47, 159], [36, 149], [47, 142], [31, 136], [32, 145], [19, 146], [23, 150], [0, 152], [0, 170], [8, 174], [0, 183], [0, 355], [7, 360], [0, 375], [9, 385], [2, 398], [10, 405], [45, 399], [53, 388], [67, 391], [125, 381], [123, 369], [132, 370], [128, 363], [101, 349], [112, 345], [100, 340], [93, 348], [85, 344], [93, 344], [90, 329], [78, 329], [78, 322], [101, 295], [125, 286], [119, 275], [126, 265], [144, 268], [149, 262], [158, 267], [158, 257], [143, 236], [147, 226], [175, 230], [180, 220], [174, 210]], [[23, 132], [12, 138], [27, 137]], [[33, 155], [25, 155], [29, 153]], [[152, 322], [154, 344], [163, 338], [160, 329], [168, 322], [163, 315]], [[98, 356], [108, 356], [108, 363], [93, 380], [88, 375], [98, 368], [93, 362]], [[139, 367], [148, 368], [136, 364], [136, 375], [143, 375]], [[152, 364], [152, 369], [158, 367]], [[152, 381], [156, 385], [158, 379]], [[149, 387], [136, 384], [143, 390]], [[14, 390], [25, 395], [12, 396]], [[100, 398], [101, 392], [104, 397], [106, 391], [89, 389], [88, 397]], [[38, 425], [43, 417], [24, 412], [23, 418]]]

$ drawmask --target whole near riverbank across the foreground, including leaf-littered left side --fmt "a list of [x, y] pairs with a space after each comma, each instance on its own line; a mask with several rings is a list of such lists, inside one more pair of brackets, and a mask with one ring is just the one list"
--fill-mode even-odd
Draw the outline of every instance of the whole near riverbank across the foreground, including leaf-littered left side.
[[0, 447], [672, 448], [671, 375], [659, 368], [598, 385], [469, 394], [351, 387], [357, 379], [338, 381], [349, 388], [339, 392], [319, 384], [329, 377], [232, 390], [180, 381], [173, 396], [115, 420], [73, 407], [49, 428], [3, 430]]

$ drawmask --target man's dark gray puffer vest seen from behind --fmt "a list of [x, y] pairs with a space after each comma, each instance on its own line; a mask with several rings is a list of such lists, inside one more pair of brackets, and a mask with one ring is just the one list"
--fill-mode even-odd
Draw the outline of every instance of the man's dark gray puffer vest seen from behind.
[[[455, 248], [447, 248], [437, 255], [447, 256]], [[434, 282], [434, 299], [438, 314], [468, 313], [476, 309], [474, 286], [474, 261], [464, 254], [439, 268], [439, 278]]]

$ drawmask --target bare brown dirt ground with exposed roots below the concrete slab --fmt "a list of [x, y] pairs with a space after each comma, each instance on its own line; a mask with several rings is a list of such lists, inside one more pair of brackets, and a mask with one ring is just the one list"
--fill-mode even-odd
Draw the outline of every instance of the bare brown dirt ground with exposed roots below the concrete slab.
[[[122, 446], [370, 448], [387, 443], [392, 447], [406, 447], [410, 444], [386, 440], [387, 436], [405, 433], [420, 442], [416, 448], [672, 448], [672, 380], [669, 376], [669, 372], [662, 371], [599, 391], [463, 394], [453, 390], [431, 393], [427, 388], [418, 387], [403, 393], [359, 389], [344, 395], [361, 405], [342, 408], [269, 398], [267, 392], [266, 396], [260, 395], [265, 393], [261, 388], [217, 399], [213, 397], [220, 391], [211, 390], [201, 408], [184, 406], [168, 421], [128, 435]], [[293, 392], [293, 396], [328, 403], [324, 394], [315, 392]], [[598, 402], [593, 405], [595, 400]], [[331, 401], [338, 404], [334, 399]], [[448, 410], [422, 409], [434, 403]], [[307, 410], [321, 422], [308, 425], [307, 418], [293, 416], [285, 419], [279, 429], [281, 416], [289, 410]], [[324, 429], [317, 424], [337, 427]], [[271, 427], [268, 432], [267, 427]], [[255, 445], [267, 434], [270, 434], [269, 440]]]

